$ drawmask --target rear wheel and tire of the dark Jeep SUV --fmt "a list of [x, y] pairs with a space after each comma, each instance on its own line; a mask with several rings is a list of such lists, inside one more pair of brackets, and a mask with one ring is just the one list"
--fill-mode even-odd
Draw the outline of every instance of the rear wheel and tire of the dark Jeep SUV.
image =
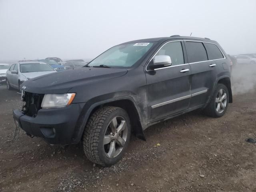
[[[226, 99], [224, 94], [226, 94]], [[228, 102], [228, 88], [224, 84], [217, 84], [210, 102], [204, 108], [204, 113], [210, 117], [222, 117], [228, 108]]]

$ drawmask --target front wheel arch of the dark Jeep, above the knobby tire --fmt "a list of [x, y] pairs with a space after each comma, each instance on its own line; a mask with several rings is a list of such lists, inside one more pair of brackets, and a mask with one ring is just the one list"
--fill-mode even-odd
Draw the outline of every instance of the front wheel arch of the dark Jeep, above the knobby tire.
[[142, 126], [142, 118], [140, 116], [140, 112], [138, 110], [138, 106], [134, 99], [130, 96], [120, 96], [117, 98], [110, 98], [107, 100], [103, 100], [100, 102], [96, 102], [92, 104], [88, 109], [84, 107], [84, 109], [81, 112], [80, 117], [78, 118], [78, 137], [76, 142], [80, 142], [82, 139], [82, 135], [84, 132], [84, 128], [86, 126], [86, 123], [88, 121], [88, 118], [90, 115], [97, 110], [98, 108], [102, 106], [115, 106], [120, 107], [126, 110], [126, 112], [129, 115], [131, 125], [132, 125], [132, 131], [136, 135], [136, 137], [146, 140], [146, 137], [143, 132], [143, 126]]

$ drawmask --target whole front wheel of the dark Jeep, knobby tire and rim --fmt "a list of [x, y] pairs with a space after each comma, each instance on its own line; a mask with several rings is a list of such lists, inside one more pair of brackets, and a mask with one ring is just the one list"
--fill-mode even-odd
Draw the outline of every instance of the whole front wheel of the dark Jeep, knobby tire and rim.
[[85, 127], [84, 153], [91, 162], [111, 166], [121, 160], [130, 134], [130, 118], [124, 109], [112, 106], [99, 108], [90, 116]]

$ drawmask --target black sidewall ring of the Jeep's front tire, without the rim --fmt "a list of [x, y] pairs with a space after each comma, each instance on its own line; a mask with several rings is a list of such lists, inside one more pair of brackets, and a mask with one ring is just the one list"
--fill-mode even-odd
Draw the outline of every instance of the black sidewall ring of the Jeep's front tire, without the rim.
[[[108, 124], [111, 122], [111, 120], [115, 116], [121, 116], [125, 119], [127, 128], [128, 128], [128, 133], [127, 133], [127, 139], [126, 139], [125, 146], [124, 146], [123, 150], [120, 152], [120, 154], [118, 156], [116, 156], [115, 158], [108, 158], [108, 156], [106, 156], [106, 152], [104, 150], [103, 140], [104, 140], [104, 136], [105, 136], [105, 132], [108, 127]], [[99, 152], [100, 161], [103, 162], [106, 166], [111, 166], [112, 164], [115, 164], [116, 162], [120, 161], [124, 152], [126, 151], [128, 144], [129, 144], [130, 135], [131, 135], [130, 118], [125, 110], [118, 108], [106, 118], [106, 120], [103, 122], [102, 129], [100, 130], [99, 143], [98, 143], [98, 152]]]

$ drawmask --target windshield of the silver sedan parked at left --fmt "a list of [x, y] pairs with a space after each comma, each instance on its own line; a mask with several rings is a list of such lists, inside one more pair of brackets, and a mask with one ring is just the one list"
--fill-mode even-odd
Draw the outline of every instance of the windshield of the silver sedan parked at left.
[[40, 71], [54, 71], [48, 64], [44, 63], [24, 63], [20, 64], [20, 72], [40, 72]]

